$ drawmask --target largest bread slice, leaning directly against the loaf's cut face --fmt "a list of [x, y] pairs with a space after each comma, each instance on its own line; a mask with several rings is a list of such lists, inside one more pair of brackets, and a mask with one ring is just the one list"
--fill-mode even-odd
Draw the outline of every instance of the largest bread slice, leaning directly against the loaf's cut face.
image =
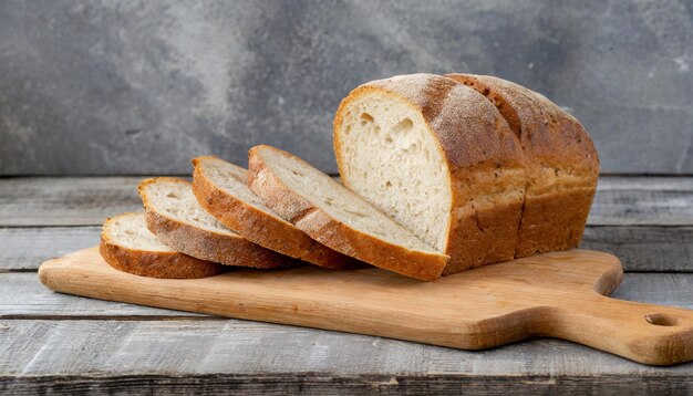
[[248, 174], [250, 188], [267, 206], [319, 242], [411, 278], [441, 277], [445, 254], [304, 160], [256, 146]]

